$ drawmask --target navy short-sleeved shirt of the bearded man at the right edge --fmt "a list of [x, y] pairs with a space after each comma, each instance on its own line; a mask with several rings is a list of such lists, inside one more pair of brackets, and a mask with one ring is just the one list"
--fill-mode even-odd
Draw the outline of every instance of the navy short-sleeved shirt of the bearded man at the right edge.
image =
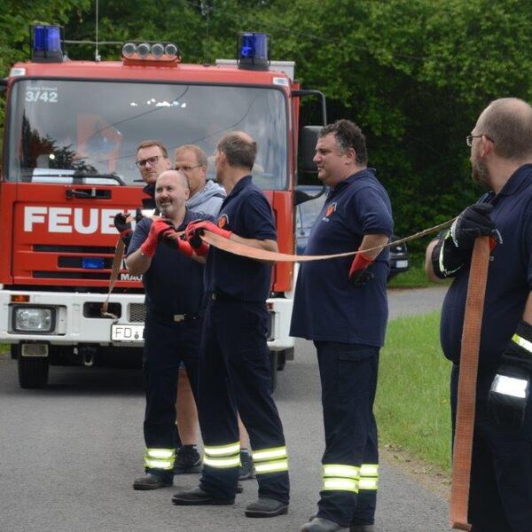
[[[518, 168], [497, 196], [490, 217], [503, 239], [491, 253], [481, 327], [479, 371], [496, 369], [532, 290], [532, 164]], [[469, 266], [458, 271], [443, 301], [443, 353], [459, 363]]]

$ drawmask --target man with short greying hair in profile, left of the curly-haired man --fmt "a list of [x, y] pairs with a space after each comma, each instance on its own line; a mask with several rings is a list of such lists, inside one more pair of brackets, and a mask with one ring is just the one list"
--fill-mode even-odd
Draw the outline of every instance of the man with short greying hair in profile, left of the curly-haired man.
[[[242, 132], [228, 133], [216, 146], [216, 178], [227, 198], [218, 224], [192, 223], [187, 240], [201, 245], [201, 231], [268, 251], [277, 251], [270, 204], [252, 183], [256, 143]], [[239, 480], [237, 409], [250, 436], [259, 497], [247, 517], [287, 512], [286, 444], [271, 396], [266, 343], [271, 265], [211, 247], [207, 255], [207, 309], [200, 354], [198, 404], [204, 441], [200, 487], [181, 490], [175, 505], [232, 505]], [[225, 379], [221, 378], [225, 376]]]

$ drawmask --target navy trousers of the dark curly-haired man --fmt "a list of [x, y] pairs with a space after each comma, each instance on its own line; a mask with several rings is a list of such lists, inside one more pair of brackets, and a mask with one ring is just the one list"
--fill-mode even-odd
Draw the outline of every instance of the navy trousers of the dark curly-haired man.
[[[379, 463], [373, 402], [377, 388], [379, 348], [315, 341], [322, 385], [325, 453], [322, 464], [360, 467]], [[372, 524], [376, 490], [356, 495], [348, 490], [322, 490], [318, 517], [344, 527]]]

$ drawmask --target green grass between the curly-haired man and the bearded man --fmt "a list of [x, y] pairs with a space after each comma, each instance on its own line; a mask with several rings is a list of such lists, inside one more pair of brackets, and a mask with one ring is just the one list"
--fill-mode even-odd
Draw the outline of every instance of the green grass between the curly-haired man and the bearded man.
[[439, 342], [440, 313], [388, 324], [375, 414], [379, 440], [450, 471], [450, 363]]

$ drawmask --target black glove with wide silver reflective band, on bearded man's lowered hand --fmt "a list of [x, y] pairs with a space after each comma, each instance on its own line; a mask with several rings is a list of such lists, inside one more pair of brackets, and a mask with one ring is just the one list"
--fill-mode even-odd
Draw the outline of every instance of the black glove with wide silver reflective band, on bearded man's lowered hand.
[[489, 389], [489, 408], [498, 426], [519, 430], [523, 425], [531, 375], [532, 325], [521, 321]]

